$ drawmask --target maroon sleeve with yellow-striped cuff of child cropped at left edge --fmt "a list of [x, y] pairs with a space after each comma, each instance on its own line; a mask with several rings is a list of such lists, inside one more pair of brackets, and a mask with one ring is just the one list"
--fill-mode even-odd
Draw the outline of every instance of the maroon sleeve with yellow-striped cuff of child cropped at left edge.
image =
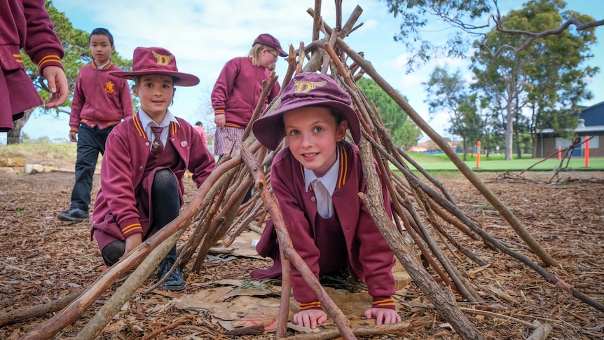
[[63, 46], [44, 8], [44, 0], [23, 0], [23, 12], [27, 20], [25, 53], [38, 65], [39, 74], [43, 74], [47, 66], [63, 68]]

